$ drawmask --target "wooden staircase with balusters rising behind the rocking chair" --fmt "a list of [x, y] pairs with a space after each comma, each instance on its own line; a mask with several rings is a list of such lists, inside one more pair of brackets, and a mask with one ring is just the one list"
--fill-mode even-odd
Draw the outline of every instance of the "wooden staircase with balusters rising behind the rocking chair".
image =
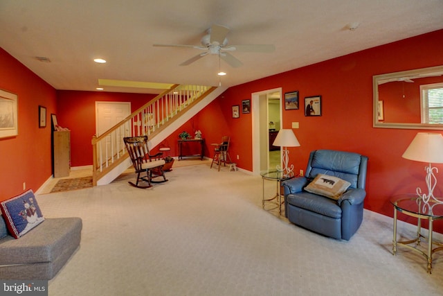
[[93, 186], [109, 184], [132, 165], [124, 137], [147, 135], [150, 147], [155, 147], [225, 90], [226, 87], [172, 85], [107, 132], [94, 136]]

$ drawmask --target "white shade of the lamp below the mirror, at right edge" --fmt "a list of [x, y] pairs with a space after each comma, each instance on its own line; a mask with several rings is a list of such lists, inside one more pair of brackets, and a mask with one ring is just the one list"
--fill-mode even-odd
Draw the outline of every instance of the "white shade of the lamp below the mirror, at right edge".
[[443, 164], [442, 134], [418, 132], [401, 157], [417, 162]]

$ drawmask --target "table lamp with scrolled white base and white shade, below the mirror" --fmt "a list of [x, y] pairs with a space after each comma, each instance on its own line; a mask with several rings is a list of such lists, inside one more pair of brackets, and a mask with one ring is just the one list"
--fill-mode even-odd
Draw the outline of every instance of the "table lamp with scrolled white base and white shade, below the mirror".
[[422, 193], [422, 189], [417, 187], [417, 195], [419, 195], [425, 203], [429, 202], [431, 198], [434, 202], [443, 203], [443, 200], [438, 200], [433, 195], [433, 190], [437, 185], [437, 178], [434, 175], [434, 171], [438, 173], [438, 169], [431, 165], [431, 163], [443, 164], [442, 134], [437, 132], [418, 132], [402, 157], [415, 160], [416, 162], [427, 162], [429, 164], [424, 168], [426, 171], [425, 180], [428, 193]]

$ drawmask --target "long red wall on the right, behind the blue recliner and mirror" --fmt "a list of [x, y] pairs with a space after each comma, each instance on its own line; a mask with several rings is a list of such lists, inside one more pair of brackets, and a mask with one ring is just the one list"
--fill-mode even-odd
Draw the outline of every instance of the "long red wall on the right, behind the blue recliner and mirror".
[[[318, 64], [295, 69], [275, 76], [230, 87], [223, 97], [223, 116], [231, 133], [231, 155], [240, 155], [237, 165], [252, 171], [251, 114], [230, 118], [230, 107], [241, 105], [254, 92], [282, 87], [282, 92], [300, 92], [300, 110], [283, 110], [283, 128], [293, 130], [300, 147], [289, 148], [290, 162], [295, 171], [305, 169], [309, 152], [316, 149], [354, 151], [369, 157], [365, 208], [392, 216], [390, 196], [413, 193], [424, 183], [426, 164], [403, 159], [401, 155], [420, 130], [372, 128], [372, 76], [433, 67], [443, 64], [443, 30], [401, 40], [373, 49], [352, 53]], [[322, 116], [304, 115], [304, 98], [322, 96]], [[210, 112], [210, 110], [208, 110]], [[228, 115], [229, 114], [229, 115]], [[216, 114], [212, 114], [215, 116]], [[210, 117], [200, 112], [199, 116]], [[435, 165], [441, 172], [437, 179], [436, 195], [442, 195], [443, 165]], [[440, 232], [442, 232], [442, 225]]]

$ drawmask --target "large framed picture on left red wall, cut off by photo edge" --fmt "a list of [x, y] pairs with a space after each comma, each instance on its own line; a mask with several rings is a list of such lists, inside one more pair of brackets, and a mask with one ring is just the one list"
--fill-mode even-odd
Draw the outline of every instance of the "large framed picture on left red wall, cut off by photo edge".
[[17, 94], [0, 89], [0, 138], [19, 134]]

